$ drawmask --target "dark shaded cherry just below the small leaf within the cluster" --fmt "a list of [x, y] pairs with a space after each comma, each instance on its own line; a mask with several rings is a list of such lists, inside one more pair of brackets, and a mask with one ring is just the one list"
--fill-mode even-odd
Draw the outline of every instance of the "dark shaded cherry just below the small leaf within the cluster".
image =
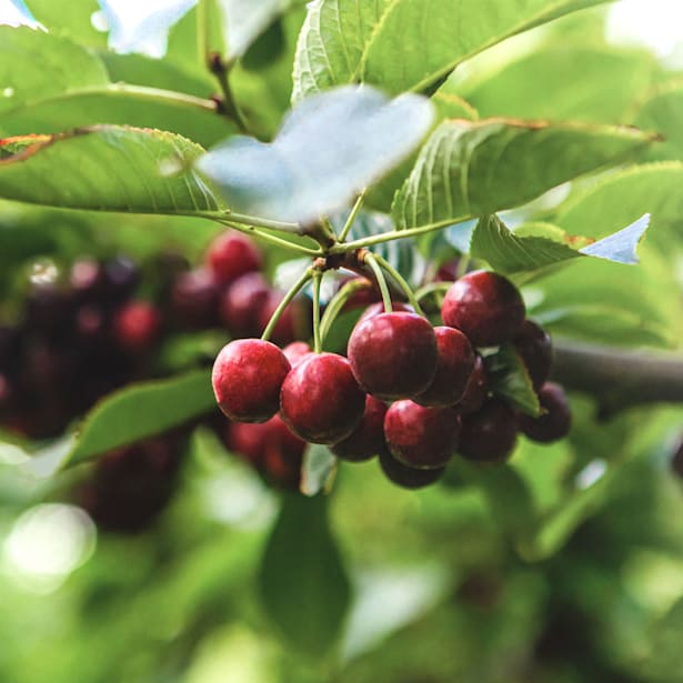
[[491, 399], [464, 418], [458, 452], [475, 462], [503, 462], [516, 443], [515, 414], [508, 403]]

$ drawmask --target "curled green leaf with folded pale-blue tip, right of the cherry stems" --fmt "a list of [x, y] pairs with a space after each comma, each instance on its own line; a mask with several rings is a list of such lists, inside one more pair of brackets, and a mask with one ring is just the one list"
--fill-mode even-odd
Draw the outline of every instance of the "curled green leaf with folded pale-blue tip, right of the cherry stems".
[[575, 250], [570, 247], [570, 238], [555, 225], [535, 223], [533, 234], [518, 234], [518, 231], [512, 232], [498, 217], [492, 215], [476, 224], [470, 254], [488, 261], [493, 270], [501, 273], [534, 271], [581, 257], [634, 264], [637, 263], [637, 244], [649, 224], [650, 217], [646, 214], [623, 230]]

